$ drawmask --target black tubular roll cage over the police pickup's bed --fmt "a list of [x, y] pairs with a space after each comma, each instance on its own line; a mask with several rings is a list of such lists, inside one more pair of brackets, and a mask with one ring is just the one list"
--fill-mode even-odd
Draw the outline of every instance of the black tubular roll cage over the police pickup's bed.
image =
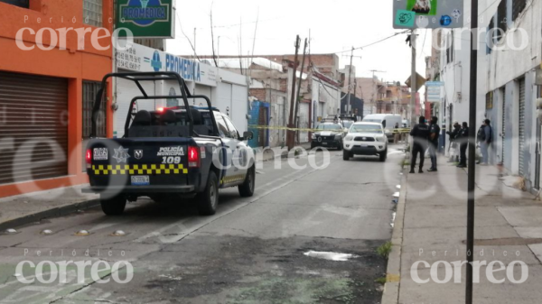
[[[134, 103], [136, 100], [140, 99], [167, 99], [167, 98], [180, 98], [183, 101], [184, 106], [186, 108], [190, 108], [190, 105], [188, 104], [188, 98], [202, 98], [205, 99], [207, 102], [207, 106], [209, 108], [209, 111], [212, 112], [212, 106], [210, 105], [210, 99], [209, 97], [203, 96], [203, 95], [192, 95], [190, 93], [190, 90], [186, 86], [186, 82], [184, 79], [179, 75], [179, 73], [172, 72], [172, 71], [162, 71], [162, 72], [127, 72], [127, 73], [108, 73], [104, 78], [102, 78], [101, 81], [101, 88], [98, 90], [98, 93], [96, 94], [96, 100], [94, 102], [94, 106], [92, 107], [92, 129], [90, 133], [91, 138], [96, 137], [96, 121], [98, 119], [98, 113], [99, 108], [101, 106], [101, 101], [103, 99], [104, 92], [107, 88], [107, 79], [108, 78], [123, 78], [126, 80], [133, 81], [135, 83], [135, 86], [139, 88], [141, 91], [141, 94], [143, 96], [140, 97], [134, 97], [132, 101], [130, 102], [130, 107], [128, 109], [128, 114], [126, 117], [126, 124], [125, 124], [125, 134], [127, 134], [127, 128], [130, 123], [130, 116], [132, 115], [132, 111], [134, 109]], [[173, 96], [149, 96], [147, 92], [145, 92], [145, 89], [141, 86], [140, 81], [156, 81], [156, 80], [174, 80], [179, 83], [179, 88], [181, 90], [181, 95], [173, 95]], [[189, 125], [189, 131], [190, 134], [194, 134], [193, 126], [194, 126], [194, 120], [192, 117], [191, 111], [186, 111], [188, 120], [190, 121]], [[216, 126], [216, 121], [214, 119], [214, 115], [210, 115], [210, 119], [212, 120], [212, 123], [214, 126]], [[215, 130], [218, 132], [218, 130]], [[197, 135], [197, 134], [196, 134]]]

